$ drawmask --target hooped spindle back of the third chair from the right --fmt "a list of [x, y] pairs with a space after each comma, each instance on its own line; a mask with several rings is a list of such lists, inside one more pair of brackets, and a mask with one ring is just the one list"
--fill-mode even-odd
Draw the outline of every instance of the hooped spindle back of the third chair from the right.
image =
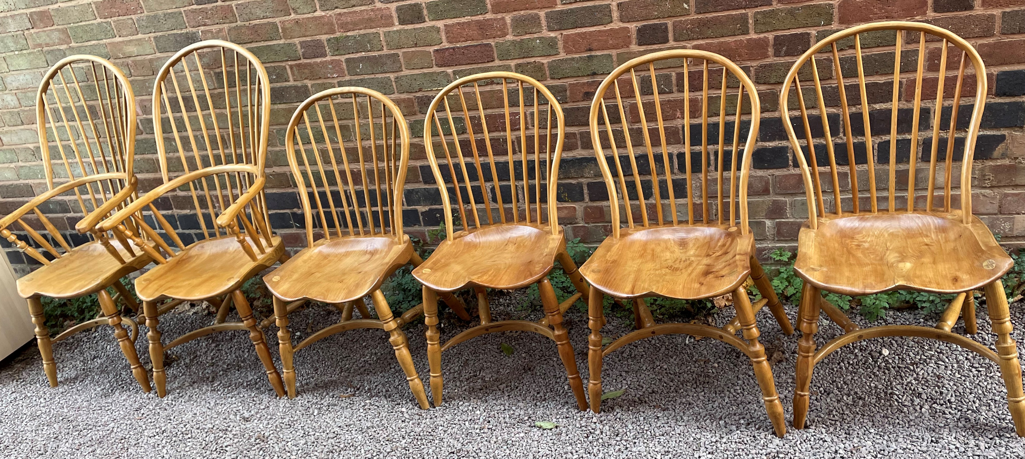
[[[463, 94], [462, 90], [463, 85], [470, 84], [473, 85], [470, 91], [473, 97]], [[500, 85], [500, 89], [495, 88], [498, 85]], [[510, 92], [515, 102], [511, 111]], [[483, 98], [482, 94], [484, 94]], [[450, 97], [450, 95], [452, 96]], [[541, 103], [542, 98], [543, 103]], [[451, 107], [453, 103], [455, 110], [461, 114], [457, 113], [456, 116], [453, 116], [453, 108]], [[530, 107], [531, 103], [533, 103], [533, 108]], [[543, 110], [544, 105], [548, 106], [547, 110]], [[541, 112], [545, 112], [545, 114], [540, 115]], [[558, 128], [555, 133], [557, 135], [555, 150], [551, 148], [552, 112], [555, 112]], [[460, 121], [462, 122], [461, 126], [458, 123]], [[562, 106], [544, 85], [526, 75], [512, 72], [486, 72], [463, 77], [445, 86], [435, 96], [427, 109], [423, 123], [423, 143], [433, 178], [437, 181], [441, 194], [445, 214], [445, 232], [448, 239], [452, 239], [454, 234], [450, 193], [456, 195], [456, 201], [459, 203], [460, 222], [464, 231], [469, 230], [470, 223], [478, 228], [485, 224], [495, 223], [540, 225], [543, 222], [542, 215], [547, 214], [547, 225], [550, 226], [551, 234], [559, 234], [556, 192], [559, 163], [566, 134], [566, 120], [563, 116]], [[448, 134], [445, 133], [443, 126], [448, 126]], [[461, 138], [458, 132], [460, 128], [465, 129], [465, 135]], [[433, 142], [436, 130], [440, 137], [439, 145], [435, 145]], [[504, 130], [505, 138], [495, 138], [495, 142], [493, 142], [492, 134], [501, 130]], [[518, 137], [517, 130], [519, 130]], [[477, 133], [481, 134], [481, 138], [478, 138]], [[446, 135], [451, 137], [451, 149]], [[542, 137], [544, 137], [543, 141]], [[483, 144], [479, 144], [482, 141]], [[442, 166], [439, 166], [436, 157], [436, 151], [439, 148], [441, 148], [447, 163], [444, 170]], [[510, 193], [507, 195], [507, 202], [511, 207], [511, 215], [506, 215], [504, 207], [506, 199], [503, 198], [503, 194], [506, 185], [500, 183], [506, 179], [505, 174], [501, 173], [505, 171], [500, 171], [495, 163], [496, 152], [500, 156], [502, 148], [505, 149], [508, 158], [507, 179], [509, 184], [507, 190]], [[517, 148], [520, 151], [520, 164], [516, 162]], [[543, 153], [541, 153], [542, 148]], [[466, 167], [466, 159], [464, 158], [466, 150], [469, 150], [468, 153], [473, 156], [469, 169]], [[486, 165], [482, 165], [481, 162], [482, 150], [487, 153]], [[533, 159], [529, 155], [531, 151]], [[544, 167], [540, 166], [541, 161], [545, 162]], [[533, 163], [535, 177], [533, 190], [530, 185], [531, 163]], [[518, 178], [520, 178], [517, 176], [518, 171], [516, 170], [518, 165], [522, 167], [520, 171], [523, 178], [522, 189], [518, 187]], [[444, 172], [447, 172], [451, 178], [451, 191], [446, 186]], [[545, 180], [543, 185], [542, 173]], [[473, 177], [475, 174], [476, 177]], [[474, 178], [478, 180], [479, 190], [475, 190], [471, 183]], [[491, 181], [490, 193], [488, 178]], [[522, 199], [519, 195], [521, 190], [523, 191]], [[492, 194], [494, 203], [492, 203]], [[478, 202], [475, 195], [480, 196], [482, 202]], [[545, 212], [541, 211], [542, 198], [547, 202]], [[532, 200], [536, 204], [534, 215], [531, 215]], [[524, 218], [520, 217], [518, 202], [522, 202], [526, 210]], [[467, 206], [470, 209], [469, 212], [465, 210]], [[484, 207], [485, 215], [480, 215], [479, 206]], [[498, 208], [497, 215], [492, 212], [492, 207]], [[467, 213], [469, 213], [468, 217]], [[495, 218], [496, 216], [498, 218]], [[486, 222], [482, 220], [486, 220]]]

